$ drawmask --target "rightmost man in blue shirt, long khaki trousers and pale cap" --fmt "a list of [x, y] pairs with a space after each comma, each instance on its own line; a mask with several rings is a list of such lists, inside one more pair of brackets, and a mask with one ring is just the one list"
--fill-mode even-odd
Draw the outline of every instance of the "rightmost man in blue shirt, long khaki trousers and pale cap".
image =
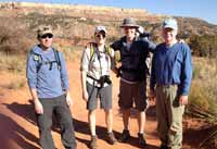
[[188, 45], [177, 42], [176, 20], [165, 20], [162, 30], [165, 41], [156, 47], [152, 60], [150, 96], [156, 96], [161, 149], [180, 149], [182, 114], [192, 78], [191, 50]]

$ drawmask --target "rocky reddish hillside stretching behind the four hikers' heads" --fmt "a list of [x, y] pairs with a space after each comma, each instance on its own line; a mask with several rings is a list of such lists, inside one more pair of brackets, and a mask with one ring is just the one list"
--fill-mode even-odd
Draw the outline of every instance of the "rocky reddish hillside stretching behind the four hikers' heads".
[[[161, 22], [165, 15], [152, 14], [145, 10], [119, 9], [111, 7], [42, 4], [27, 2], [0, 3], [0, 44], [4, 34], [11, 38], [23, 36], [26, 40], [34, 40], [35, 30], [40, 24], [51, 24], [54, 34], [60, 40], [69, 41], [71, 45], [86, 45], [93, 35], [95, 25], [103, 24], [110, 33], [110, 41], [122, 36], [119, 25], [124, 17], [135, 17], [138, 24], [152, 34], [155, 41], [161, 40]], [[191, 17], [177, 17], [180, 36], [217, 35], [217, 25]], [[2, 34], [2, 32], [4, 34]], [[18, 40], [16, 38], [16, 40]]]

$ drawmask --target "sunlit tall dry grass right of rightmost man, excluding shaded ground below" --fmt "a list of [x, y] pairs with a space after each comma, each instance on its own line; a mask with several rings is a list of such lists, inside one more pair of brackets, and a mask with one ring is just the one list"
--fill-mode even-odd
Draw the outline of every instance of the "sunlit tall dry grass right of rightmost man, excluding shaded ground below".
[[194, 58], [190, 102], [217, 113], [217, 59]]

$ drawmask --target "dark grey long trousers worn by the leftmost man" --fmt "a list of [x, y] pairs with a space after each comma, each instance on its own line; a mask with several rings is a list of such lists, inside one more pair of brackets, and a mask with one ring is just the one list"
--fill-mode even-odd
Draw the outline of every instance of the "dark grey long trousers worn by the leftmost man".
[[39, 142], [42, 149], [55, 149], [51, 136], [52, 116], [54, 113], [60, 123], [62, 144], [66, 149], [76, 149], [73, 119], [65, 96], [39, 100], [43, 107], [43, 114], [37, 114], [40, 135]]

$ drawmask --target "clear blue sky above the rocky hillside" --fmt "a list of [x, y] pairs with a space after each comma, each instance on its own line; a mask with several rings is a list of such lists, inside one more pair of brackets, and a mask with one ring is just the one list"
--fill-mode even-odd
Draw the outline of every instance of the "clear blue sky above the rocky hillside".
[[[10, 1], [10, 0], [0, 0]], [[151, 13], [200, 17], [217, 25], [217, 0], [13, 0], [145, 9]]]

